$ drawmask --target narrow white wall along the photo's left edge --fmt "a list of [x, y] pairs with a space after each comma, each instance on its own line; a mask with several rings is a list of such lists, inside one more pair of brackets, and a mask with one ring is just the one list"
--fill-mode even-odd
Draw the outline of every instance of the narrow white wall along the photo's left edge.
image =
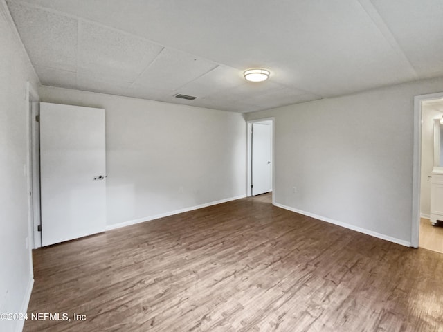
[[[0, 0], [0, 313], [26, 311], [33, 271], [28, 237], [26, 81], [33, 71], [6, 3]], [[23, 321], [0, 320], [0, 331], [17, 331]]]

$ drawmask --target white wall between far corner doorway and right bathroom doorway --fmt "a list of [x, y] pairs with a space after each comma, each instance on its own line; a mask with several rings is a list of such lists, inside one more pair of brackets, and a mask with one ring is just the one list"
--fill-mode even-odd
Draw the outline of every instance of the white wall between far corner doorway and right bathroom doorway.
[[275, 202], [408, 245], [413, 97], [440, 91], [443, 78], [248, 113], [275, 117]]

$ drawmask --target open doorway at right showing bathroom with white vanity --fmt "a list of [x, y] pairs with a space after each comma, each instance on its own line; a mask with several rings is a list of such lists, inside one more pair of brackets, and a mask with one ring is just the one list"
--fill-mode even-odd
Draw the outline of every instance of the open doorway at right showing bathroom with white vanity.
[[417, 120], [413, 208], [418, 215], [414, 216], [411, 243], [443, 253], [443, 93], [415, 98]]

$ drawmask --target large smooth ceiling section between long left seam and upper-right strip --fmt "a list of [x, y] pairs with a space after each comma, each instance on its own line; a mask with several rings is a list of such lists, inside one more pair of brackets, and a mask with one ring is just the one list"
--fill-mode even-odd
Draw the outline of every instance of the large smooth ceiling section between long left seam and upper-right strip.
[[415, 80], [355, 0], [33, 1], [239, 70], [278, 68], [275, 82], [316, 95]]

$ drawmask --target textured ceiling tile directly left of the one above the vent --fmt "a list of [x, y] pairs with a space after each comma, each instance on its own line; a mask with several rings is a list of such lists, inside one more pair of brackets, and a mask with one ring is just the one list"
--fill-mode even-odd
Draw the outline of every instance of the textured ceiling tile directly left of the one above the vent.
[[91, 73], [134, 82], [162, 48], [115, 29], [80, 21], [78, 66]]

